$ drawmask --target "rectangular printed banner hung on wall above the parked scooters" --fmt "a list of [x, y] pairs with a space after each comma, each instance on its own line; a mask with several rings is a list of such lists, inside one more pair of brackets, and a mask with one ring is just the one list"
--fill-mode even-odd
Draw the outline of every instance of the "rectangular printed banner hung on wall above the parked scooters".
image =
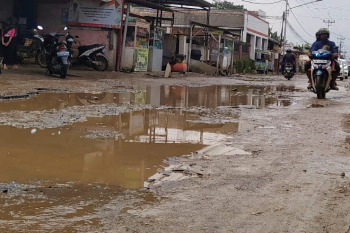
[[122, 0], [71, 0], [68, 25], [120, 28]]

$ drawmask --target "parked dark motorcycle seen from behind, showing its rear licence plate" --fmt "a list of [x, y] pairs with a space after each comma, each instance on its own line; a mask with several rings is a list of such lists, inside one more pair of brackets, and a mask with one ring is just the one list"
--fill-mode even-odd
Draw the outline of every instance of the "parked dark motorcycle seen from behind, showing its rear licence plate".
[[70, 53], [66, 43], [58, 42], [59, 37], [61, 36], [65, 35], [57, 32], [44, 33], [43, 51], [46, 58], [48, 72], [50, 74], [59, 74], [61, 78], [66, 78], [68, 57]]

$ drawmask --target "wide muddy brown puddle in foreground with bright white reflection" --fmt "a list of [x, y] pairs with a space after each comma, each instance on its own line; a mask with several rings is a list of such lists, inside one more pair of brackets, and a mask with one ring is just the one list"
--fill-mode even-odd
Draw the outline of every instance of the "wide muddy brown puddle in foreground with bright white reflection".
[[[197, 151], [226, 134], [251, 128], [238, 123], [194, 123], [185, 111], [142, 110], [88, 118], [59, 129], [1, 126], [0, 182], [45, 179], [58, 183], [116, 185], [138, 189], [167, 157]], [[89, 139], [90, 131], [117, 131], [117, 140]]]

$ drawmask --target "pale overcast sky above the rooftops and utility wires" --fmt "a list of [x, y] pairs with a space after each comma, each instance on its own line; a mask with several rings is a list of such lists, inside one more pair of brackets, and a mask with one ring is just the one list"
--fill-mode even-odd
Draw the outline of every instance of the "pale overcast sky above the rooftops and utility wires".
[[[267, 16], [266, 21], [270, 23], [272, 32], [277, 31], [278, 35], [281, 32], [282, 15], [285, 11], [286, 0], [227, 0], [235, 5], [244, 5], [247, 10], [263, 10]], [[340, 46], [340, 38], [343, 40], [343, 49], [347, 50], [347, 58], [350, 57], [350, 0], [288, 0], [290, 8], [296, 7], [289, 11], [288, 22], [296, 32], [297, 36], [287, 28], [286, 38], [294, 44], [303, 44], [304, 41], [313, 43], [315, 33], [321, 27], [328, 27], [325, 21], [334, 21], [329, 25], [330, 40]], [[314, 2], [299, 6], [308, 2]], [[259, 3], [259, 4], [257, 4]], [[274, 18], [280, 16], [279, 18]], [[339, 38], [339, 39], [338, 39]]]

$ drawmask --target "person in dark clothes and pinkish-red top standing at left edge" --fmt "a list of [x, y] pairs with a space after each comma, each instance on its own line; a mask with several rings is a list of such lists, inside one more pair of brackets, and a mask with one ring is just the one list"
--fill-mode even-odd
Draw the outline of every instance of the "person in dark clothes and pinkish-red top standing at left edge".
[[18, 66], [15, 65], [16, 57], [16, 45], [14, 37], [16, 34], [15, 18], [9, 17], [7, 19], [7, 25], [1, 32], [1, 42], [2, 42], [2, 55], [3, 69], [8, 69], [11, 66], [13, 69], [17, 69]]

